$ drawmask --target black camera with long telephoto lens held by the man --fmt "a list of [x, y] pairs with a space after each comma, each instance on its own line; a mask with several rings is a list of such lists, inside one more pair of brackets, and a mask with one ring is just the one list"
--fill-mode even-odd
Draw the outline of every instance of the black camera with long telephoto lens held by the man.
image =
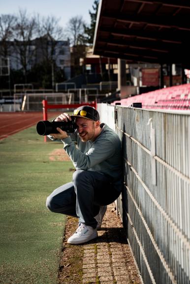
[[49, 135], [53, 133], [59, 133], [57, 127], [61, 128], [63, 131], [73, 133], [77, 128], [74, 121], [48, 121], [41, 120], [36, 125], [36, 130], [39, 135]]

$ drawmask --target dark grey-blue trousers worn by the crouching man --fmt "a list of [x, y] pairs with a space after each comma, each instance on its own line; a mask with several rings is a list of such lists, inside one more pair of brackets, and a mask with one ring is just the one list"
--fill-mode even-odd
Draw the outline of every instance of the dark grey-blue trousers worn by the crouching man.
[[76, 170], [73, 181], [52, 192], [46, 201], [47, 208], [79, 218], [80, 223], [96, 227], [95, 216], [100, 205], [112, 203], [120, 195], [104, 174], [90, 170]]

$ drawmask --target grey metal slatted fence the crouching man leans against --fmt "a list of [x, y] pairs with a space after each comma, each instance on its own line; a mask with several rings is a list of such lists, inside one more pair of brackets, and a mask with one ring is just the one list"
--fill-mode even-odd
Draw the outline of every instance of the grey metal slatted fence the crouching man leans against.
[[145, 284], [190, 284], [190, 112], [116, 106], [118, 207]]

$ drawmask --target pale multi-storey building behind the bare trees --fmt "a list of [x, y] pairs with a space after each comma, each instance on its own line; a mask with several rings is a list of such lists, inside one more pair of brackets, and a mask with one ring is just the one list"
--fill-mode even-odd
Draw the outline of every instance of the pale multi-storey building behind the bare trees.
[[[35, 64], [49, 60], [54, 62], [57, 68], [64, 71], [66, 79], [70, 79], [70, 46], [69, 40], [55, 41], [48, 36], [36, 38], [27, 42], [8, 41], [7, 57], [10, 61], [10, 69], [18, 71], [31, 70]], [[0, 49], [2, 48], [0, 42]]]

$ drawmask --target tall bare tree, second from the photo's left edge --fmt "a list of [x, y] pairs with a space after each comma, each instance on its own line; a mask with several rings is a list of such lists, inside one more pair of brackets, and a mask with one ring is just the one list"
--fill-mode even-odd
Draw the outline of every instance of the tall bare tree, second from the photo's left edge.
[[32, 45], [32, 39], [35, 33], [35, 18], [27, 14], [26, 10], [19, 10], [15, 25], [15, 57], [22, 66], [25, 83], [27, 83], [27, 71], [32, 65], [35, 46]]

